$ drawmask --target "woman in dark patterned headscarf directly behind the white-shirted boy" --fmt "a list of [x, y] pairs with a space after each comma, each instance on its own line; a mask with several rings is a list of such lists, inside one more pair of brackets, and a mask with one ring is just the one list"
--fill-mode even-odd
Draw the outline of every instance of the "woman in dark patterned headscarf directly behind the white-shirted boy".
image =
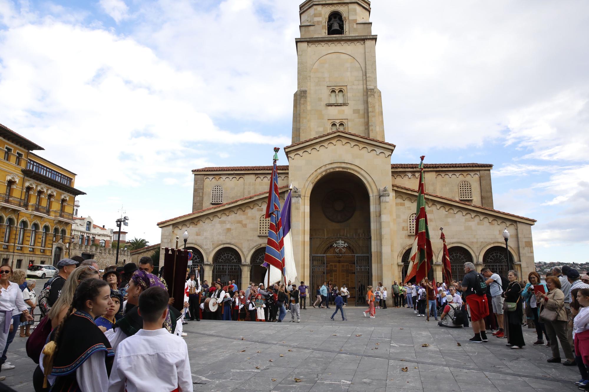
[[[139, 295], [150, 287], [166, 287], [161, 283], [160, 278], [145, 271], [136, 271], [130, 278], [127, 290], [127, 301], [123, 309], [123, 317], [112, 326], [111, 330], [104, 334], [110, 341], [112, 350], [117, 350], [118, 344], [128, 336], [134, 335], [143, 327], [143, 320], [137, 313], [137, 304]], [[176, 308], [168, 305], [168, 314], [162, 327], [166, 328], [169, 333], [180, 336], [182, 334], [182, 323], [178, 322], [181, 313]]]

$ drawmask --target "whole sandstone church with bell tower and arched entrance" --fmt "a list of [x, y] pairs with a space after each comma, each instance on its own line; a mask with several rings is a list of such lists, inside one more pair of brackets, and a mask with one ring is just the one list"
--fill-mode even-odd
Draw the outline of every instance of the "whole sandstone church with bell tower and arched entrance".
[[[280, 151], [279, 163], [288, 164], [278, 167], [281, 202], [292, 184], [293, 283], [305, 281], [311, 293], [324, 281], [346, 284], [350, 300], [361, 303], [368, 285], [391, 287], [407, 273], [418, 157], [391, 164], [395, 145], [385, 141], [370, 2], [306, 0], [299, 14], [292, 144]], [[467, 261], [502, 275], [514, 269], [524, 279], [534, 271], [535, 220], [494, 209], [491, 170], [492, 164], [425, 164], [436, 281], [441, 228], [455, 280]], [[193, 170], [192, 211], [158, 223], [161, 246], [174, 247], [176, 237], [182, 244], [186, 231], [201, 278], [235, 280], [240, 288], [261, 283], [271, 172], [271, 166]]]

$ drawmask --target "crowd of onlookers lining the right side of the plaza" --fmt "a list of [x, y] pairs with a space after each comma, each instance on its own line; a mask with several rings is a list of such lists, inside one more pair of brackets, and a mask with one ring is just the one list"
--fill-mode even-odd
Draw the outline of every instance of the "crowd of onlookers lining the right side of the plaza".
[[[472, 343], [489, 341], [487, 331], [492, 331], [492, 337], [507, 340], [505, 346], [521, 350], [522, 328], [535, 328], [537, 340], [532, 344], [550, 348], [547, 362], [577, 366], [581, 379], [575, 384], [589, 390], [589, 276], [567, 266], [555, 267], [542, 283], [535, 271], [522, 280], [515, 270], [504, 277], [488, 267], [477, 272], [472, 263], [464, 264], [464, 273], [460, 283], [433, 284], [424, 279], [403, 284], [400, 299], [417, 317], [429, 314], [441, 327], [470, 323]], [[368, 296], [373, 298], [370, 289]], [[374, 306], [370, 304], [366, 312], [373, 315]]]

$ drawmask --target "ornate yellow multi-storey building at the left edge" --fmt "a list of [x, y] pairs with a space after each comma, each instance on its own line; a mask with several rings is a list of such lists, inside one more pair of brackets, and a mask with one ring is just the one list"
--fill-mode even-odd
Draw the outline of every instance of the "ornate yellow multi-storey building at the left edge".
[[34, 154], [44, 148], [2, 124], [0, 148], [2, 264], [55, 264], [68, 255], [74, 199], [85, 193], [74, 188], [74, 172]]

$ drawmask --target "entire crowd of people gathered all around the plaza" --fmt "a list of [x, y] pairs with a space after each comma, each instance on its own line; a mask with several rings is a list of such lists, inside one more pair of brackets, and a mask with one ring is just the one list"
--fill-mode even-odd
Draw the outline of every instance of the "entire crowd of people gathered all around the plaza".
[[[102, 274], [95, 260], [81, 258], [60, 260], [57, 268], [36, 295], [35, 281], [27, 281], [24, 271], [0, 266], [0, 371], [14, 368], [6, 352], [19, 330], [28, 338], [27, 355], [38, 364], [35, 391], [191, 390], [184, 324], [201, 319], [282, 323], [287, 311], [291, 323], [300, 323], [312, 293], [303, 281], [269, 287], [250, 282], [244, 290], [235, 281], [209, 285], [187, 270], [186, 280], [177, 283], [184, 284], [183, 304], [175, 307], [163, 271], [158, 276], [149, 257], [138, 265], [111, 265]], [[440, 327], [470, 324], [472, 343], [487, 342], [492, 331], [514, 350], [525, 346], [522, 328], [535, 328], [532, 344], [550, 348], [549, 363], [577, 366], [581, 379], [576, 384], [589, 390], [589, 284], [584, 281], [589, 277], [554, 268], [542, 283], [535, 272], [521, 280], [515, 270], [504, 277], [488, 267], [476, 271], [472, 263], [464, 264], [464, 273], [461, 282], [449, 284], [394, 281], [390, 291], [379, 282], [355, 300], [368, 304], [365, 317], [376, 318], [391, 293], [395, 308], [429, 315]], [[345, 284], [326, 281], [317, 285], [316, 301], [309, 298], [309, 305], [334, 305], [331, 320], [339, 312], [345, 321], [349, 298]], [[37, 309], [41, 321], [31, 330]]]

